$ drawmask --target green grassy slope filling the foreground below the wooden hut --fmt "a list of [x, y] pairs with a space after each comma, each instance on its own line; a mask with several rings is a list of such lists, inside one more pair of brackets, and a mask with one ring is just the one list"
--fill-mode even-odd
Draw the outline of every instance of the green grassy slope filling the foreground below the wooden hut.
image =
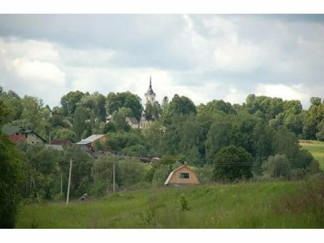
[[[116, 193], [87, 203], [75, 201], [68, 206], [64, 203], [29, 205], [21, 208], [16, 227], [322, 228], [324, 212], [317, 208], [316, 213], [309, 210], [308, 200], [312, 196], [305, 195], [304, 203], [301, 199], [300, 188], [304, 184], [263, 182], [161, 187]], [[187, 211], [181, 210], [181, 194], [187, 199]]]

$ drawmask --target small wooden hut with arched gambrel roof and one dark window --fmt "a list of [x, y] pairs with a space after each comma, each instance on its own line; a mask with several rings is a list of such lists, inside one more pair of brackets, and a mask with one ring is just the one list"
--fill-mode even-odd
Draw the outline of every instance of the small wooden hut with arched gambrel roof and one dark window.
[[165, 185], [189, 185], [200, 184], [198, 177], [187, 167], [187, 162], [183, 166], [172, 171], [164, 183]]

